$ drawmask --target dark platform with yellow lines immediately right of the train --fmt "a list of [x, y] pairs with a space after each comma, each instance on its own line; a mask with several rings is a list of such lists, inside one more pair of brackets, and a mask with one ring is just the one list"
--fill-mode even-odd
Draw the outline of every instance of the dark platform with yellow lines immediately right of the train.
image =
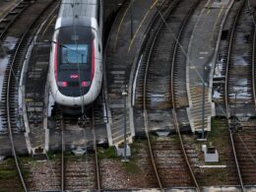
[[[125, 2], [111, 29], [106, 46], [105, 96], [109, 123], [107, 125], [109, 145], [123, 141], [124, 102], [122, 88], [128, 85], [126, 110], [127, 137], [135, 135], [133, 109], [131, 106], [132, 82], [137, 65], [136, 56], [144, 33], [156, 13], [158, 1], [142, 0]], [[130, 140], [131, 141], [131, 140]]]

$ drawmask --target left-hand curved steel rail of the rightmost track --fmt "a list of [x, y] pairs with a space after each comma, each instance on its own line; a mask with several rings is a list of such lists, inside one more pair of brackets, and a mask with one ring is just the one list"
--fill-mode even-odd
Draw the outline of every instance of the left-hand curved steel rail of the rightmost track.
[[233, 142], [233, 136], [232, 136], [232, 131], [230, 129], [230, 108], [229, 108], [229, 103], [228, 103], [228, 69], [229, 69], [229, 63], [230, 63], [230, 58], [231, 58], [231, 49], [232, 49], [232, 41], [233, 41], [233, 36], [234, 36], [234, 30], [235, 30], [235, 25], [237, 24], [238, 18], [240, 16], [242, 7], [245, 4], [245, 0], [243, 0], [243, 2], [241, 3], [241, 6], [239, 7], [237, 14], [235, 16], [234, 22], [232, 24], [231, 27], [231, 34], [230, 34], [230, 39], [228, 42], [228, 51], [227, 51], [227, 59], [226, 59], [226, 65], [225, 65], [225, 84], [224, 84], [224, 101], [225, 101], [225, 110], [226, 110], [226, 115], [228, 117], [227, 123], [228, 123], [228, 131], [229, 131], [229, 137], [230, 137], [230, 141], [231, 141], [231, 146], [232, 146], [232, 152], [233, 152], [233, 157], [235, 160], [235, 165], [236, 165], [236, 170], [237, 170], [237, 174], [238, 174], [238, 178], [239, 178], [239, 183], [241, 186], [241, 190], [245, 191], [244, 189], [244, 185], [243, 185], [243, 180], [242, 180], [242, 176], [241, 176], [241, 172], [240, 172], [240, 167], [239, 167], [239, 163], [236, 157], [236, 151], [235, 151], [235, 146], [234, 146], [234, 142]]

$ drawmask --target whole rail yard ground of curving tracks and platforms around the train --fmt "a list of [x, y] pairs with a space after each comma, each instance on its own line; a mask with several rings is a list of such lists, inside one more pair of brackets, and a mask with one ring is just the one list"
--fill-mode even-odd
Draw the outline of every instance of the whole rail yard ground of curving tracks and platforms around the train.
[[[59, 1], [11, 3], [0, 15], [0, 154], [15, 157], [2, 166], [17, 167], [14, 190], [255, 190], [250, 0], [118, 2], [102, 91], [82, 117], [63, 114], [48, 91]], [[113, 150], [124, 141], [129, 162]], [[221, 159], [210, 169], [200, 149], [208, 141]], [[20, 156], [27, 154], [35, 160]], [[42, 185], [41, 175], [52, 179]]]

